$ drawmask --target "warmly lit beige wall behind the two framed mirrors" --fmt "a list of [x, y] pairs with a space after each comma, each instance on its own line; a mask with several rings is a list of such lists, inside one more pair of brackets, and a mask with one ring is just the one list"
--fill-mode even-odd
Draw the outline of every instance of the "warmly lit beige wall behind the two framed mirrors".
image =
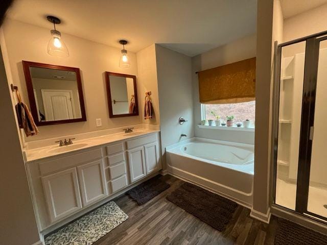
[[[68, 58], [56, 58], [46, 52], [46, 46], [51, 37], [50, 30], [11, 19], [6, 19], [3, 28], [13, 80], [20, 90], [22, 100], [27, 104], [28, 97], [21, 60], [73, 66], [81, 69], [87, 121], [42, 126], [39, 128], [40, 134], [28, 137], [28, 141], [135, 125], [142, 122], [141, 115], [109, 118], [104, 78], [104, 71], [131, 74], [137, 77], [135, 54], [129, 52], [132, 67], [123, 69], [119, 67], [121, 55], [119, 48], [63, 33], [62, 39], [68, 47], [70, 56]], [[141, 103], [143, 95], [139, 96], [139, 99]], [[96, 127], [96, 118], [102, 119], [102, 127]]]

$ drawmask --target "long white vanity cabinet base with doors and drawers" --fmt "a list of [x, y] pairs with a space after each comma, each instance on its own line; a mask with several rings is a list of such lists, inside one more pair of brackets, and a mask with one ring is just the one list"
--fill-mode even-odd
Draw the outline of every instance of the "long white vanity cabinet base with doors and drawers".
[[159, 134], [154, 132], [28, 161], [40, 230], [69, 222], [159, 171], [158, 142]]

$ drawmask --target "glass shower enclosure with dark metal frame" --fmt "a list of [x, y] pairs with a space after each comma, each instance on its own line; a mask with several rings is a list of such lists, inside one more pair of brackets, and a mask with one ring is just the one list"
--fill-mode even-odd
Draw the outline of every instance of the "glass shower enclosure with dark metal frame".
[[277, 46], [273, 205], [327, 223], [327, 32]]

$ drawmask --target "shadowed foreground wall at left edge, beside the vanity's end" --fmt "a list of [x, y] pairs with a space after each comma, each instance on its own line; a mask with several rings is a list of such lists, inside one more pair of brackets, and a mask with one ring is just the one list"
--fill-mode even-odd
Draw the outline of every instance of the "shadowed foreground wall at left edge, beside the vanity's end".
[[30, 245], [39, 235], [9, 91], [0, 52], [0, 243]]

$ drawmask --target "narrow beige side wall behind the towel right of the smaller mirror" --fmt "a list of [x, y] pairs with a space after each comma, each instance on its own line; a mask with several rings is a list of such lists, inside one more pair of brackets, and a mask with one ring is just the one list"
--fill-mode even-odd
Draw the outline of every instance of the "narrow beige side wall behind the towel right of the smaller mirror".
[[[160, 124], [159, 114], [159, 99], [158, 99], [158, 84], [157, 84], [157, 67], [155, 57], [155, 44], [144, 48], [137, 52], [137, 71], [138, 71], [138, 94], [139, 101], [141, 102], [142, 121], [144, 124]], [[151, 91], [152, 106], [154, 117], [152, 119], [144, 119], [144, 98], [145, 92]]]

